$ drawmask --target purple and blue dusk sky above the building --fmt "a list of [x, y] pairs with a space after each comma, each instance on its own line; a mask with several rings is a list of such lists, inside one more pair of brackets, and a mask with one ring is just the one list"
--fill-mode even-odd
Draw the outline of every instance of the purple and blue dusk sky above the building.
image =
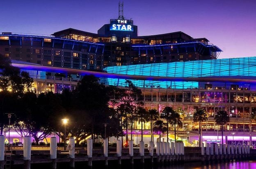
[[[0, 32], [52, 34], [97, 30], [118, 17], [119, 0], [2, 0]], [[182, 31], [207, 38], [219, 58], [256, 56], [255, 0], [123, 0], [139, 35]]]

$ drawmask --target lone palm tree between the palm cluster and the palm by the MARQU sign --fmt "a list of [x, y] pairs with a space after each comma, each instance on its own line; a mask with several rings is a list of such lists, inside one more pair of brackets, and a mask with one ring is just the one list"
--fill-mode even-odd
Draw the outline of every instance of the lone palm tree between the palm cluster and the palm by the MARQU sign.
[[204, 122], [206, 120], [208, 120], [208, 118], [207, 118], [207, 114], [206, 114], [205, 110], [198, 109], [197, 111], [194, 112], [193, 122], [199, 122], [199, 147], [201, 147], [201, 137], [202, 137], [201, 124], [202, 124], [202, 122]]

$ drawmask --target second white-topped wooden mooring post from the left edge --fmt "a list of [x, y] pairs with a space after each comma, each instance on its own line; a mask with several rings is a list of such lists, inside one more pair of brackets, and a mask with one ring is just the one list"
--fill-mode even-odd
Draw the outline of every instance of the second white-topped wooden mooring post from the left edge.
[[23, 144], [23, 158], [24, 158], [24, 169], [30, 169], [30, 159], [31, 159], [31, 137], [24, 137]]

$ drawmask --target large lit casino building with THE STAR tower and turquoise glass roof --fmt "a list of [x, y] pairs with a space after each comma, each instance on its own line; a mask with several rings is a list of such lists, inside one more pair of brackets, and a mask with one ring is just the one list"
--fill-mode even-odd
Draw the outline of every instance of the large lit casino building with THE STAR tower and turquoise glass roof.
[[[198, 140], [192, 114], [203, 108], [208, 113], [208, 121], [203, 122], [204, 142], [221, 140], [214, 116], [226, 110], [230, 122], [224, 142], [255, 145], [256, 122], [251, 113], [256, 113], [256, 57], [217, 59], [219, 52], [208, 39], [183, 32], [138, 36], [133, 20], [123, 17], [122, 3], [118, 19], [111, 19], [97, 34], [72, 28], [51, 36], [0, 34], [0, 54], [30, 73], [32, 91], [37, 94], [73, 90], [87, 74], [119, 87], [129, 79], [142, 90], [139, 99], [147, 110], [161, 111], [165, 106], [184, 110], [179, 137], [189, 138], [189, 144]], [[138, 134], [136, 128], [137, 124]]]

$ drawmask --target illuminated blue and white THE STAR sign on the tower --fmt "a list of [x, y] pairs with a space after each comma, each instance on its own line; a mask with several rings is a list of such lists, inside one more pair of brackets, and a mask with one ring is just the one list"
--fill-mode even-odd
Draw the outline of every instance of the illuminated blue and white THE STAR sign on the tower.
[[133, 31], [133, 22], [132, 20], [110, 20], [110, 30]]

